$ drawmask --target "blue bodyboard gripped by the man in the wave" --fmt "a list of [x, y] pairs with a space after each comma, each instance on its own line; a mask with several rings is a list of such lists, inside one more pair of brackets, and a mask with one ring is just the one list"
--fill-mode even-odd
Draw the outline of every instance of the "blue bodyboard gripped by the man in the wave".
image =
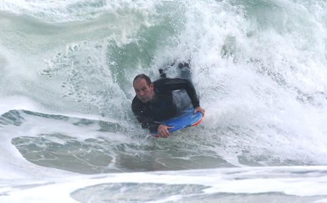
[[[201, 122], [201, 120], [202, 120], [202, 114], [200, 112], [194, 113], [194, 108], [191, 107], [189, 109], [181, 111], [173, 118], [160, 121], [160, 123], [167, 126], [173, 126], [174, 127], [173, 129], [168, 130], [171, 133], [188, 126], [198, 125]], [[154, 137], [159, 136], [158, 132], [154, 132], [152, 135]]]

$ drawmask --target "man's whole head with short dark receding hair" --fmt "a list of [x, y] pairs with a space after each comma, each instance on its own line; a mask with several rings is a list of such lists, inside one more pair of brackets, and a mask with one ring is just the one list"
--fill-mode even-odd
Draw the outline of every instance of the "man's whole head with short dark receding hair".
[[153, 99], [154, 86], [147, 75], [145, 74], [136, 75], [133, 81], [133, 87], [137, 98], [141, 100], [141, 102], [147, 103]]

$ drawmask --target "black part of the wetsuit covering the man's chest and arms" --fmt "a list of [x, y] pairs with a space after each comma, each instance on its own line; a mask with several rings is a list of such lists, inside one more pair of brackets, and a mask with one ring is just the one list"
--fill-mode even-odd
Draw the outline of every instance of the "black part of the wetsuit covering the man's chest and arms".
[[191, 98], [193, 107], [199, 107], [200, 102], [192, 82], [184, 78], [162, 78], [153, 82], [154, 98], [147, 103], [134, 97], [132, 111], [142, 128], [156, 132], [161, 120], [173, 117], [176, 114], [176, 105], [173, 103], [172, 91], [185, 89]]

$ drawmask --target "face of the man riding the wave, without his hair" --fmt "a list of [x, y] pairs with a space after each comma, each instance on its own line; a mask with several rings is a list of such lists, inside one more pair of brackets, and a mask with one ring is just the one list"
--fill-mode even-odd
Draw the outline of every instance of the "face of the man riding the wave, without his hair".
[[147, 103], [150, 102], [154, 96], [153, 83], [150, 85], [147, 84], [145, 79], [139, 79], [134, 81], [134, 90], [136, 96], [141, 102]]

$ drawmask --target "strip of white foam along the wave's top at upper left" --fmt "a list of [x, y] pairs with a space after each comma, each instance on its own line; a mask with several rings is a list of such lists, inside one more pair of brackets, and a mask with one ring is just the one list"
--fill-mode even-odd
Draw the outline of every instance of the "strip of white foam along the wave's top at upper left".
[[144, 8], [151, 7], [150, 3], [143, 1], [106, 1], [106, 0], [71, 0], [71, 1], [39, 1], [39, 0], [1, 0], [0, 11], [18, 15], [28, 15], [37, 19], [65, 23], [72, 21], [90, 20], [105, 13], [116, 13], [120, 10], [139, 10], [142, 14]]

